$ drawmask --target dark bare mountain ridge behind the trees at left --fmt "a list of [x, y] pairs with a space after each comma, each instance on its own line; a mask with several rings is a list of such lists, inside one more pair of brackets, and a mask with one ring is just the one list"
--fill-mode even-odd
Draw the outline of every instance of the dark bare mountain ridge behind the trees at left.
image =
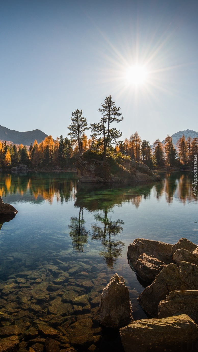
[[30, 145], [34, 143], [35, 139], [40, 143], [45, 137], [47, 137], [47, 134], [40, 130], [18, 132], [0, 125], [0, 139], [10, 141], [13, 144]]

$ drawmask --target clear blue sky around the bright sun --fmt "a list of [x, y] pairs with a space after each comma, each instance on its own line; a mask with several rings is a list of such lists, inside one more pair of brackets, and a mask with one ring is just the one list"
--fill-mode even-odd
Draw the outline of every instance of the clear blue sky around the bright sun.
[[1, 0], [0, 125], [66, 137], [72, 111], [97, 122], [111, 95], [123, 138], [198, 131], [197, 40], [197, 0]]

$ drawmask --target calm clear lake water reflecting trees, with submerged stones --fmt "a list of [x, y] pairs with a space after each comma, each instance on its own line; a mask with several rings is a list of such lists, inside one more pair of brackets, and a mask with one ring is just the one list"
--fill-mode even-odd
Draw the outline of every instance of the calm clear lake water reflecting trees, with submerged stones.
[[[87, 344], [76, 335], [82, 317], [97, 317], [102, 289], [116, 272], [129, 288], [134, 319], [146, 318], [136, 301], [143, 283], [128, 265], [128, 245], [135, 238], [198, 243], [192, 172], [159, 174], [161, 182], [150, 184], [92, 185], [79, 184], [69, 172], [0, 173], [0, 195], [18, 210], [0, 230], [1, 326], [43, 322], [66, 331], [62, 348], [122, 351], [119, 337], [97, 324], [87, 323], [82, 332], [94, 336]], [[72, 298], [63, 300], [68, 292]]]

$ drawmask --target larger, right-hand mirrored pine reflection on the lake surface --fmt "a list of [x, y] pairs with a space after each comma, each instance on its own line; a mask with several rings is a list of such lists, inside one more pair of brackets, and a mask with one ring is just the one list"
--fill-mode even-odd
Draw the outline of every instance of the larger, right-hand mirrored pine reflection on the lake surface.
[[120, 240], [115, 241], [112, 237], [123, 231], [121, 225], [124, 225], [124, 222], [120, 219], [111, 221], [107, 214], [108, 211], [106, 208], [103, 210], [103, 215], [95, 215], [95, 219], [100, 221], [102, 226], [98, 226], [97, 224], [91, 226], [93, 230], [92, 240], [101, 240], [104, 251], [101, 251], [99, 254], [103, 256], [107, 266], [113, 269], [113, 264], [123, 251], [124, 243]]

